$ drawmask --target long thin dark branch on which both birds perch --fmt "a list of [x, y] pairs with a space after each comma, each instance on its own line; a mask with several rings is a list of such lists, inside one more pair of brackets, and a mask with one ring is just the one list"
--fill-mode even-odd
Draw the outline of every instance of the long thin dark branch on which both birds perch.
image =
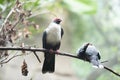
[[[23, 48], [23, 47], [0, 47], [0, 50], [14, 50], [14, 51], [31, 51], [31, 52], [49, 52], [49, 50], [47, 49], [42, 49], [42, 48]], [[70, 53], [64, 53], [64, 52], [56, 52], [56, 51], [53, 51], [53, 54], [57, 54], [57, 55], [62, 55], [62, 56], [68, 56], [68, 57], [72, 57], [72, 58], [76, 58], [76, 59], [80, 59], [78, 56], [75, 56], [75, 55], [71, 55]], [[34, 53], [34, 55], [36, 56], [36, 54]], [[14, 57], [17, 57], [17, 56], [21, 56], [21, 55], [16, 55], [16, 56], [13, 56], [12, 58]], [[37, 56], [38, 57], [38, 56]], [[12, 58], [10, 58], [8, 61], [10, 61]], [[37, 58], [38, 59], [38, 58]], [[81, 60], [81, 59], [80, 59]], [[110, 68], [104, 66], [104, 69], [112, 72], [113, 74], [115, 74], [116, 76], [120, 77], [120, 74], [116, 73], [115, 71], [111, 70]]]

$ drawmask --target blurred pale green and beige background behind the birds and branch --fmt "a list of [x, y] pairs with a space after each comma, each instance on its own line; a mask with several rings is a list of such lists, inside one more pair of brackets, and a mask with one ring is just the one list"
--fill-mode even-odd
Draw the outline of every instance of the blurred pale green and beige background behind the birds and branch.
[[[29, 38], [22, 38], [28, 46], [42, 47], [42, 33], [55, 17], [61, 18], [64, 35], [61, 52], [76, 55], [78, 48], [90, 42], [100, 51], [103, 65], [120, 73], [120, 0], [19, 0], [23, 8], [32, 15], [27, 19], [39, 29], [27, 27]], [[0, 11], [4, 19], [15, 0], [0, 0]], [[0, 23], [2, 24], [2, 21]], [[18, 25], [22, 27], [22, 24]], [[24, 27], [22, 27], [24, 28]], [[18, 28], [19, 29], [19, 28]], [[12, 52], [15, 53], [15, 52]], [[43, 62], [43, 53], [38, 53]], [[22, 76], [23, 60], [28, 65], [28, 76]], [[0, 67], [0, 80], [120, 80], [104, 70], [94, 69], [91, 64], [69, 57], [56, 55], [56, 70], [52, 74], [41, 73], [42, 63], [31, 53], [17, 57]]]

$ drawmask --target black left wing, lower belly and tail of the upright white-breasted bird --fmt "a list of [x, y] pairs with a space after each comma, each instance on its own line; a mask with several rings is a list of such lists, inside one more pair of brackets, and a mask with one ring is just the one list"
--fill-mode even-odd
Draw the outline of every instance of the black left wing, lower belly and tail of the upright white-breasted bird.
[[[47, 43], [46, 41], [47, 33], [46, 31], [43, 33], [43, 48], [45, 49], [52, 49], [52, 50], [58, 50], [60, 48], [60, 42], [56, 45], [52, 45], [50, 43]], [[46, 72], [54, 72], [55, 71], [55, 54], [47, 52], [44, 53], [44, 63], [43, 63], [43, 68], [42, 68], [42, 73]]]

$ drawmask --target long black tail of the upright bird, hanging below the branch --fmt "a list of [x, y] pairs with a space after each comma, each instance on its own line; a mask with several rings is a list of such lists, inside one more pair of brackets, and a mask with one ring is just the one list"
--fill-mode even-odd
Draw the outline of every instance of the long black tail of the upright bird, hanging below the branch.
[[54, 72], [55, 70], [55, 54], [45, 53], [42, 73]]

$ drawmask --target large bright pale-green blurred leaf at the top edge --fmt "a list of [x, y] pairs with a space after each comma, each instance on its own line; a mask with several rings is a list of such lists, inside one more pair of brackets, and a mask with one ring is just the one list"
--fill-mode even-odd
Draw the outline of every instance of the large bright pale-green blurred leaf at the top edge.
[[97, 10], [96, 0], [63, 0], [65, 7], [77, 14], [94, 14]]

